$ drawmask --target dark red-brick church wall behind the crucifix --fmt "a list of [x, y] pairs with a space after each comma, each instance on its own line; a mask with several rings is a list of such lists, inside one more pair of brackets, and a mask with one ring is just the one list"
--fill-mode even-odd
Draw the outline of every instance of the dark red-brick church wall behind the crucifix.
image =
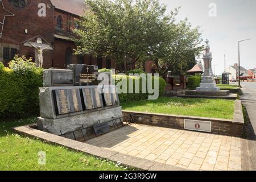
[[[46, 5], [46, 17], [38, 16], [38, 4]], [[33, 38], [34, 36], [42, 36], [50, 44], [53, 43], [53, 13], [54, 8], [49, 0], [28, 0], [28, 5], [24, 8], [16, 8], [10, 5], [8, 0], [3, 0], [5, 9], [14, 14], [7, 16], [3, 27], [3, 35], [0, 39], [0, 61], [3, 60], [3, 47], [17, 49], [19, 55], [35, 56], [35, 49], [22, 46], [22, 42]], [[2, 7], [0, 7], [2, 8]], [[2, 11], [2, 9], [1, 9]], [[0, 21], [3, 11], [0, 12]], [[36, 26], [35, 26], [36, 25]], [[27, 34], [25, 30], [27, 29]], [[46, 53], [44, 57], [47, 59], [44, 64], [51, 65], [52, 53]]]

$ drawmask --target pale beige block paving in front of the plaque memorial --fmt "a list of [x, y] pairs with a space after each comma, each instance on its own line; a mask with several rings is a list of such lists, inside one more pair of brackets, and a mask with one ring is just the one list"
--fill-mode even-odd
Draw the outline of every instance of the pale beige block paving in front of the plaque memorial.
[[241, 170], [241, 139], [131, 124], [86, 143], [191, 170]]

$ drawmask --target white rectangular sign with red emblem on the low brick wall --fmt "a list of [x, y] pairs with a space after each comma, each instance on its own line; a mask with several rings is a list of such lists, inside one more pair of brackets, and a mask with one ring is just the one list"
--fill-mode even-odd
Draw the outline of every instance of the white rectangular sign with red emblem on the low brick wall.
[[184, 119], [184, 129], [212, 133], [212, 122]]

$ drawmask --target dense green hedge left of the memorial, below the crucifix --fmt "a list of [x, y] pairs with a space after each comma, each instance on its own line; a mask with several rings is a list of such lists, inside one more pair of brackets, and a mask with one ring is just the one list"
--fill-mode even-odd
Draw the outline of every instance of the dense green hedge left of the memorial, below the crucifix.
[[0, 118], [38, 114], [43, 70], [25, 57], [14, 57], [9, 67], [0, 65]]

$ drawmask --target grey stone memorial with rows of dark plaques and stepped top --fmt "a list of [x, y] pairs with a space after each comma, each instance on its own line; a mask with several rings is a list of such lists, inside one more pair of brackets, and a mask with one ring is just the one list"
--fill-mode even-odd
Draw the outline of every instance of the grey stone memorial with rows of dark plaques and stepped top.
[[47, 69], [43, 72], [38, 129], [61, 135], [92, 126], [97, 129], [97, 134], [104, 133], [108, 129], [107, 121], [122, 117], [115, 86], [94, 84], [97, 66], [74, 64], [68, 68], [71, 69]]

